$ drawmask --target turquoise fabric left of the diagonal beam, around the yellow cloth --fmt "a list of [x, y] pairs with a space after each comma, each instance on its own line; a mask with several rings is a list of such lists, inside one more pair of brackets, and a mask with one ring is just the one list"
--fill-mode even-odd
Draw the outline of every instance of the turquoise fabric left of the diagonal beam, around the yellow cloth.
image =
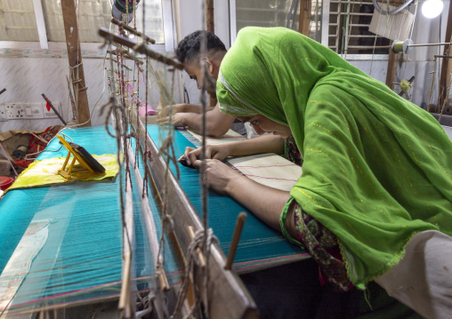
[[[116, 140], [104, 127], [63, 131], [91, 154], [117, 154]], [[52, 140], [46, 149], [61, 148]], [[39, 159], [66, 156], [44, 152]], [[140, 166], [143, 174], [143, 165]], [[132, 179], [134, 179], [132, 175]], [[149, 189], [149, 196], [153, 196]], [[119, 179], [103, 182], [74, 182], [57, 187], [16, 189], [0, 200], [0, 272], [11, 259], [27, 228], [44, 220], [48, 238], [32, 260], [25, 280], [12, 301], [12, 308], [28, 309], [73, 304], [118, 296], [122, 271], [122, 228], [119, 211]], [[159, 211], [155, 214], [157, 236], [161, 234]], [[149, 289], [154, 261], [149, 253], [146, 232], [141, 227], [141, 196], [133, 189], [135, 225], [134, 277], [136, 288]], [[180, 281], [182, 268], [169, 245], [165, 246], [165, 271], [170, 283]], [[2, 275], [0, 284], [14, 277]]]

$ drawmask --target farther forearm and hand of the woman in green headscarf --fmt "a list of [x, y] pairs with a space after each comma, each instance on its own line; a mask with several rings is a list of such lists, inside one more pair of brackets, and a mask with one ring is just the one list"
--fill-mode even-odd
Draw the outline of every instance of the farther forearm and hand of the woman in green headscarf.
[[[185, 148], [185, 154], [179, 159], [185, 158], [191, 165], [201, 156], [202, 148]], [[206, 158], [222, 161], [228, 156], [249, 156], [262, 153], [282, 154], [284, 152], [284, 139], [277, 135], [265, 135], [257, 139], [243, 140], [239, 142], [209, 145], [206, 147]]]

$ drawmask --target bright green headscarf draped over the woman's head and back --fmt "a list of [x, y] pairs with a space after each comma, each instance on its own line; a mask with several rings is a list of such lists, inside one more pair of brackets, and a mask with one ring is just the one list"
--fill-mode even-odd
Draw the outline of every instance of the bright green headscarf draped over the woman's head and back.
[[290, 127], [304, 162], [283, 233], [295, 199], [338, 237], [359, 288], [397, 264], [417, 232], [452, 235], [446, 132], [335, 52], [287, 28], [243, 28], [217, 98], [226, 114]]

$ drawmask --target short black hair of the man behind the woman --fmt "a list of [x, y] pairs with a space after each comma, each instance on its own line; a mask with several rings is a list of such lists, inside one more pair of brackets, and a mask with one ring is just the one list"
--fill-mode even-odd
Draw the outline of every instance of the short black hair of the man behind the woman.
[[218, 36], [215, 36], [209, 31], [198, 30], [188, 36], [185, 36], [177, 45], [177, 60], [180, 60], [183, 63], [185, 59], [190, 61], [198, 56], [199, 52], [201, 52], [203, 33], [206, 34], [207, 51], [226, 51], [226, 47]]

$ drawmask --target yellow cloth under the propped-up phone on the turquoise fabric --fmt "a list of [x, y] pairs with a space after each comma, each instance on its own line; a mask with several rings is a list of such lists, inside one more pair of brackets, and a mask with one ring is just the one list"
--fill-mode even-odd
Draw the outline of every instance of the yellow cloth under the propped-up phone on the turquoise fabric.
[[[119, 171], [119, 165], [117, 163], [117, 156], [105, 154], [102, 156], [93, 157], [101, 163], [103, 167], [105, 167], [105, 174], [99, 176], [93, 176], [83, 179], [84, 172], [78, 172], [81, 174], [81, 177], [76, 180], [89, 181], [89, 180], [102, 180], [102, 179], [114, 179]], [[42, 187], [49, 186], [54, 184], [62, 184], [67, 183], [64, 177], [58, 174], [58, 170], [61, 170], [61, 167], [65, 161], [66, 157], [53, 157], [44, 159], [42, 161], [35, 161], [31, 163], [25, 171], [22, 171], [19, 177], [14, 181], [11, 187], [7, 189], [7, 191], [17, 188], [29, 188], [29, 187]], [[69, 159], [69, 163], [72, 161], [72, 157]], [[79, 163], [74, 165], [74, 169], [77, 170], [82, 166]], [[85, 174], [89, 174], [86, 173]], [[77, 172], [71, 174], [71, 176], [76, 177]], [[6, 193], [6, 192], [5, 192]]]

